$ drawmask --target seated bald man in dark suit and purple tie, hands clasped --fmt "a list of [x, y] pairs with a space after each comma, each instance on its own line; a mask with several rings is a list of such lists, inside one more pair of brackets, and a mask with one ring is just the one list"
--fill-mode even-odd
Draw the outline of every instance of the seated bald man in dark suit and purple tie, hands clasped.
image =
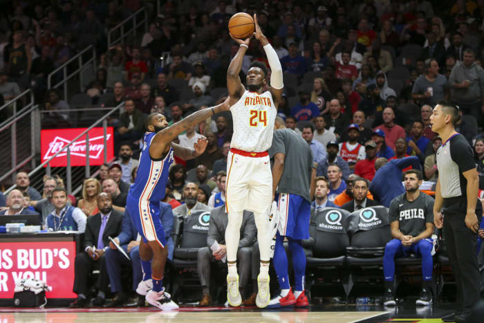
[[97, 207], [100, 212], [87, 219], [84, 251], [75, 256], [73, 290], [77, 299], [71, 307], [84, 307], [89, 303], [86, 296], [89, 293], [89, 275], [94, 266], [100, 268], [100, 273], [97, 280], [99, 292], [93, 305], [104, 305], [104, 293], [109, 283], [104, 253], [109, 248], [108, 237], [117, 236], [121, 232], [122, 214], [113, 210], [111, 195], [104, 192], [97, 195]]

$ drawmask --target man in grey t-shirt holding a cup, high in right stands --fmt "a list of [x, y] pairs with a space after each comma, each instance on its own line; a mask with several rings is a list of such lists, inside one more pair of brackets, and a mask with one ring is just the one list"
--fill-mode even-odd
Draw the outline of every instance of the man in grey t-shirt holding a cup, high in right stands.
[[413, 84], [412, 98], [420, 104], [434, 107], [437, 102], [447, 97], [447, 87], [445, 76], [438, 73], [438, 62], [436, 59], [430, 59], [425, 68], [425, 75], [420, 75]]

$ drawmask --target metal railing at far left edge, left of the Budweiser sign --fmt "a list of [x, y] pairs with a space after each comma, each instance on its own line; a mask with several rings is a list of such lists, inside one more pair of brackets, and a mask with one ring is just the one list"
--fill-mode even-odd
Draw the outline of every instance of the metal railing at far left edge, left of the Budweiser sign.
[[[29, 102], [26, 102], [27, 98], [30, 99]], [[18, 104], [21, 104], [21, 111], [17, 113]], [[0, 149], [5, 152], [10, 150], [11, 156], [10, 165], [8, 165], [8, 158], [0, 162], [0, 182], [10, 175], [12, 175], [12, 182], [15, 182], [17, 169], [29, 162], [32, 168], [35, 167], [35, 133], [38, 128], [35, 112], [38, 111], [38, 106], [34, 105], [34, 93], [28, 89], [0, 107], [0, 111], [7, 108], [11, 108], [13, 114], [0, 124]], [[25, 131], [28, 127], [30, 127], [30, 133]], [[29, 140], [30, 145], [28, 145]], [[19, 158], [21, 158], [20, 162], [18, 162]]]

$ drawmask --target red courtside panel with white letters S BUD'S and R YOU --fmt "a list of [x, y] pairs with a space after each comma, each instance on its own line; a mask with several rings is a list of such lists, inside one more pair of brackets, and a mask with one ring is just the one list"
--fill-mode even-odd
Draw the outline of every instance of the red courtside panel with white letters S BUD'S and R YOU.
[[0, 243], [0, 298], [12, 298], [18, 279], [35, 278], [52, 286], [47, 298], [75, 298], [74, 241]]

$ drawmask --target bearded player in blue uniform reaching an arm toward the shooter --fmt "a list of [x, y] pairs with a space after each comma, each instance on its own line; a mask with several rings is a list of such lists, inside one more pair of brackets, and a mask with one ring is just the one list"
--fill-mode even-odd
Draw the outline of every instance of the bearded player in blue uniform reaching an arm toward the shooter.
[[145, 145], [140, 154], [136, 180], [129, 189], [126, 207], [142, 237], [140, 258], [145, 277], [136, 291], [146, 295], [149, 304], [162, 310], [178, 308], [162, 288], [168, 250], [165, 248], [165, 233], [160, 220], [160, 201], [165, 197], [168, 170], [174, 154], [187, 160], [199, 156], [207, 147], [205, 138], [199, 138], [194, 149], [181, 147], [171, 140], [215, 113], [227, 110], [228, 100], [225, 100], [223, 104], [197, 111], [170, 127], [167, 127], [168, 122], [160, 113], [151, 113], [145, 123]]

